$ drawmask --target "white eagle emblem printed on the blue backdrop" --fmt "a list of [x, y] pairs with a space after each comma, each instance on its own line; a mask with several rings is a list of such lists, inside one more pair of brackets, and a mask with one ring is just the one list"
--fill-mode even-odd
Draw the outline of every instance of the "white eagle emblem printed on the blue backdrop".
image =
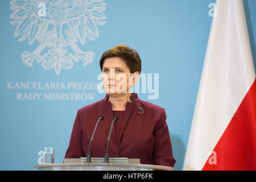
[[[39, 3], [46, 5], [46, 16], [39, 16]], [[10, 8], [14, 11], [10, 24], [16, 25], [18, 41], [39, 44], [34, 52], [21, 54], [28, 67], [36, 61], [59, 75], [61, 68], [71, 69], [73, 61], [81, 60], [84, 66], [92, 63], [94, 52], [84, 52], [76, 43], [84, 44], [86, 37], [98, 38], [97, 26], [104, 25], [106, 19], [102, 0], [12, 0]]]

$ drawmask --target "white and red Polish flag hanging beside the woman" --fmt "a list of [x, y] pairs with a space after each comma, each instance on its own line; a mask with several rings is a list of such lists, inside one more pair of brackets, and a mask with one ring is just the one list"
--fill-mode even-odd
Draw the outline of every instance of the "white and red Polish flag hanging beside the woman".
[[217, 0], [184, 170], [256, 170], [255, 70], [242, 0]]

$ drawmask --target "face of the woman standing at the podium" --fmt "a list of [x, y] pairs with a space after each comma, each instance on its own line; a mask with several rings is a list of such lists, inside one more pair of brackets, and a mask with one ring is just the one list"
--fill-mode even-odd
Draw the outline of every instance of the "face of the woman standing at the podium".
[[139, 72], [131, 74], [129, 67], [120, 57], [108, 57], [102, 65], [103, 87], [108, 94], [130, 93], [138, 75]]

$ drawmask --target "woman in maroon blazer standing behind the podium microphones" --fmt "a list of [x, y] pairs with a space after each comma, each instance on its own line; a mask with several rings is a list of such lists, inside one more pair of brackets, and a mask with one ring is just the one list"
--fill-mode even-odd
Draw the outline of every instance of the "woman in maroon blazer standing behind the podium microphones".
[[141, 164], [174, 167], [170, 134], [165, 110], [142, 101], [130, 93], [141, 73], [141, 58], [133, 48], [115, 46], [100, 59], [105, 98], [77, 111], [65, 158], [85, 157], [90, 138], [100, 115], [90, 153], [92, 158], [104, 158], [110, 125], [115, 115], [109, 157], [139, 158]]

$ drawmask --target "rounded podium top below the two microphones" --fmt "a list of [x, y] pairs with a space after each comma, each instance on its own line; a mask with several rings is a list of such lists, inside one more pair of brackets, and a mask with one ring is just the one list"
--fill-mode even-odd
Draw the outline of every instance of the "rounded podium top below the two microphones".
[[168, 166], [150, 164], [114, 164], [114, 163], [53, 163], [35, 165], [36, 169], [46, 171], [173, 171]]

